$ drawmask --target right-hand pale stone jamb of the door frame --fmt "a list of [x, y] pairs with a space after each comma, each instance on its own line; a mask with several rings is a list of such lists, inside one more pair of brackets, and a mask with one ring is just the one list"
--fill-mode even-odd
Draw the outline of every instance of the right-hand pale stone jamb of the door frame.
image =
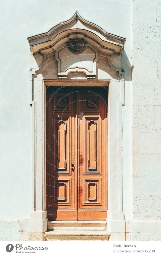
[[[108, 59], [109, 60], [109, 59]], [[112, 63], [110, 62], [111, 66]], [[120, 72], [121, 79], [111, 81], [108, 92], [108, 213], [107, 231], [111, 233], [109, 241], [126, 241], [126, 221], [123, 213], [122, 194], [122, 106], [124, 106], [124, 71]], [[118, 98], [114, 104], [113, 99]], [[116, 116], [112, 113], [115, 113]], [[117, 126], [114, 125], [117, 122]], [[112, 127], [112, 129], [111, 129]], [[116, 141], [112, 144], [111, 141]], [[116, 153], [117, 148], [117, 153]]]

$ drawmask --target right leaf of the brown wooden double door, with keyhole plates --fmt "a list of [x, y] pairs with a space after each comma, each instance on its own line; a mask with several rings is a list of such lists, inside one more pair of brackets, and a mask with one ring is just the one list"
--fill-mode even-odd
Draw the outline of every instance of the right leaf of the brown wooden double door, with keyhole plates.
[[[90, 90], [89, 90], [90, 91]], [[105, 220], [107, 216], [107, 90], [79, 93], [78, 220]]]

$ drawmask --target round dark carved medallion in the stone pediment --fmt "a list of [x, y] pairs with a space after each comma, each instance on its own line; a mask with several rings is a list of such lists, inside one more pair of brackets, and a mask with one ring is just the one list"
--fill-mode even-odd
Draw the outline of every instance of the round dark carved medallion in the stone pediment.
[[71, 52], [79, 53], [85, 50], [86, 42], [84, 42], [82, 39], [75, 38], [68, 41], [67, 46]]

